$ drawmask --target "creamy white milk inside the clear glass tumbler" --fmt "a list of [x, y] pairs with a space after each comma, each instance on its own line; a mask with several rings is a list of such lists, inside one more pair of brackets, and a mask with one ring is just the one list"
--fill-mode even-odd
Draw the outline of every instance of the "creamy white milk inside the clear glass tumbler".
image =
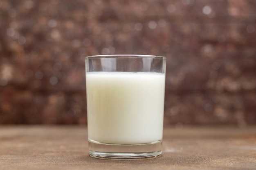
[[109, 144], [162, 140], [165, 74], [86, 74], [88, 138]]

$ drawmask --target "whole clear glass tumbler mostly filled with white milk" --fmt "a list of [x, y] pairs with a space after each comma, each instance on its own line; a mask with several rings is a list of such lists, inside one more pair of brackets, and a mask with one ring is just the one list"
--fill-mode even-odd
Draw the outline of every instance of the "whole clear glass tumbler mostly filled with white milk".
[[162, 154], [166, 58], [85, 59], [89, 155], [145, 159]]

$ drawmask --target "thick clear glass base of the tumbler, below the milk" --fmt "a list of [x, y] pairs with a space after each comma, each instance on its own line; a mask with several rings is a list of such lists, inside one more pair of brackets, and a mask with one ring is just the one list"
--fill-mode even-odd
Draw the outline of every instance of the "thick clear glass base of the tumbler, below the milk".
[[150, 159], [162, 154], [162, 140], [146, 144], [106, 144], [88, 139], [89, 155], [100, 159]]

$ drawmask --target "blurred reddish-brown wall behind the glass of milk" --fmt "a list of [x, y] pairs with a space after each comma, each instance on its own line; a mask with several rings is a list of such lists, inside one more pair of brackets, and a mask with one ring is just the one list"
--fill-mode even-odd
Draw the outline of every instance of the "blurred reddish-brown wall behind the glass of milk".
[[167, 57], [165, 125], [256, 124], [255, 0], [0, 0], [0, 124], [86, 124], [96, 54]]

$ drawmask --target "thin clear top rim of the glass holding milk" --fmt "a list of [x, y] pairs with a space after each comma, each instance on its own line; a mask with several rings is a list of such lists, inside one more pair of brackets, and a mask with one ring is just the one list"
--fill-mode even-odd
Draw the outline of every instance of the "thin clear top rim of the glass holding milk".
[[85, 57], [90, 58], [152, 58], [152, 59], [166, 59], [164, 56], [145, 55], [145, 54], [106, 54], [106, 55], [91, 55]]

